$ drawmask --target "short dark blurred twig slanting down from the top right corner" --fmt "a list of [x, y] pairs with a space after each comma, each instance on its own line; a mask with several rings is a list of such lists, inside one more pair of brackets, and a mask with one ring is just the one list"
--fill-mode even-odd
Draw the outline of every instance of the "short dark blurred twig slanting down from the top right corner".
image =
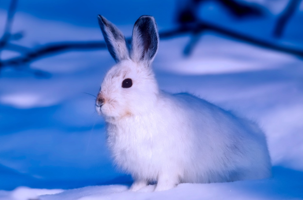
[[287, 7], [285, 8], [284, 12], [278, 18], [278, 21], [277, 21], [277, 24], [276, 24], [276, 27], [275, 27], [275, 30], [273, 33], [274, 37], [281, 38], [287, 22], [289, 21], [291, 16], [294, 14], [295, 9], [298, 7], [300, 2], [301, 2], [301, 0], [291, 0], [289, 2]]

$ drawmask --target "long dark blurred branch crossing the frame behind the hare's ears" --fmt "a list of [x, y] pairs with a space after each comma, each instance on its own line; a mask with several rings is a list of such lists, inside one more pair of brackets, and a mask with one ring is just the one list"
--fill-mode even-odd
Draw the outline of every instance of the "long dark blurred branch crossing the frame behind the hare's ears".
[[[287, 46], [267, 42], [261, 39], [253, 38], [251, 36], [243, 35], [206, 22], [200, 22], [199, 24], [196, 25], [196, 28], [194, 29], [189, 26], [180, 27], [170, 31], [160, 32], [159, 35], [161, 39], [168, 39], [178, 35], [184, 35], [188, 33], [192, 34], [194, 32], [193, 30], [195, 30], [195, 32], [197, 33], [201, 31], [211, 31], [211, 32], [219, 33], [221, 35], [228, 36], [238, 41], [246, 42], [261, 48], [292, 54], [298, 56], [300, 59], [303, 59], [303, 50], [294, 49]], [[129, 42], [131, 38], [128, 38], [127, 40]], [[51, 43], [44, 45], [40, 48], [37, 48], [34, 52], [29, 52], [23, 56], [2, 61], [0, 62], [0, 68], [5, 66], [14, 66], [14, 65], [30, 63], [37, 59], [43, 58], [45, 56], [58, 54], [64, 51], [87, 51], [87, 50], [98, 50], [105, 48], [106, 48], [105, 42], [98, 42], [98, 41]]]

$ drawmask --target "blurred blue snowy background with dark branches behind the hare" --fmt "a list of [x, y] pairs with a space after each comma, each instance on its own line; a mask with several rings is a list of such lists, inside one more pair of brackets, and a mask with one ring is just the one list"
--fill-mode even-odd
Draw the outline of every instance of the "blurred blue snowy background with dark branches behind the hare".
[[95, 112], [114, 64], [98, 14], [126, 38], [153, 15], [160, 88], [258, 122], [276, 177], [303, 177], [303, 1], [2, 0], [0, 190], [132, 182], [112, 164]]

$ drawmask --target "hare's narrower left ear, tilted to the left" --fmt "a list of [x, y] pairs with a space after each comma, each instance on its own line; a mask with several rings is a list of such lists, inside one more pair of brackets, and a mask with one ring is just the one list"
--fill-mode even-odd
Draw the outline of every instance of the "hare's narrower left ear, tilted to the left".
[[108, 48], [116, 62], [129, 58], [129, 48], [122, 32], [103, 16], [98, 15], [98, 22]]

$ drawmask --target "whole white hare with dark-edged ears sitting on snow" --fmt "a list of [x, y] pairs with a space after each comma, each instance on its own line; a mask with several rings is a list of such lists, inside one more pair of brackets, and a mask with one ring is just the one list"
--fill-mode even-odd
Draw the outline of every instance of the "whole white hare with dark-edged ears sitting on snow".
[[193, 95], [158, 88], [152, 16], [136, 21], [131, 48], [115, 25], [101, 15], [98, 21], [117, 64], [105, 75], [96, 110], [105, 117], [115, 164], [134, 179], [131, 191], [150, 182], [162, 191], [179, 183], [271, 176], [265, 135], [256, 124]]

